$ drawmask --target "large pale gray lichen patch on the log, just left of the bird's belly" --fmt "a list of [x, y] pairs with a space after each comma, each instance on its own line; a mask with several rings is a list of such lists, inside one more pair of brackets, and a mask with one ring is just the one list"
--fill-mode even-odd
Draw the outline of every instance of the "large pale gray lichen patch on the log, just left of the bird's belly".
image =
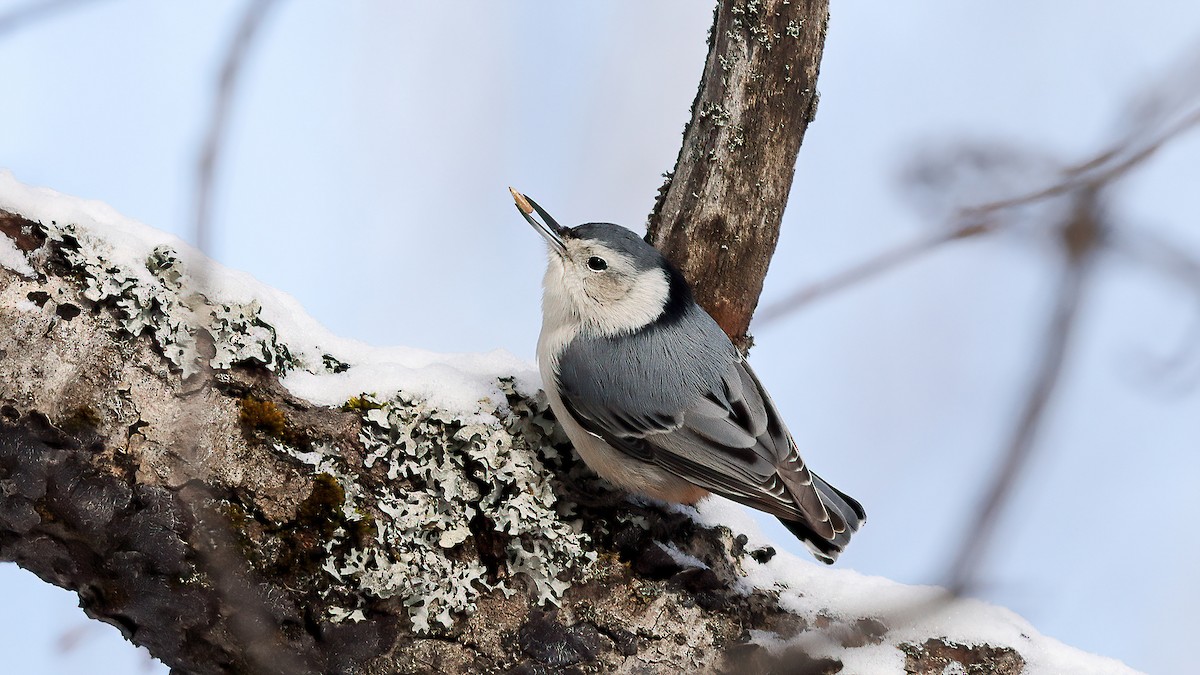
[[451, 628], [485, 592], [528, 590], [557, 604], [595, 560], [580, 525], [560, 516], [542, 464], [554, 452], [545, 405], [502, 386], [509, 401], [494, 411], [499, 424], [464, 423], [403, 396], [358, 398], [365, 468], [386, 478], [370, 495], [329, 454], [306, 458], [340, 477], [348, 512], [378, 514], [371, 545], [330, 543], [326, 572], [368, 596], [401, 599], [416, 633]]

